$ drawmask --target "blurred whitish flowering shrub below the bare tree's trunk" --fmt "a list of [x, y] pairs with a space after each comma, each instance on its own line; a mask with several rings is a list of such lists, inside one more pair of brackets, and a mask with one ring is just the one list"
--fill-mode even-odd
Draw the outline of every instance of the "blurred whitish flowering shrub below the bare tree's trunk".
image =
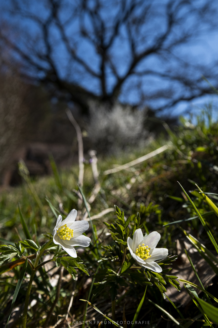
[[116, 104], [90, 104], [90, 121], [87, 132], [96, 150], [115, 153], [132, 146], [141, 146], [149, 133], [144, 128], [146, 110], [133, 110], [130, 106]]

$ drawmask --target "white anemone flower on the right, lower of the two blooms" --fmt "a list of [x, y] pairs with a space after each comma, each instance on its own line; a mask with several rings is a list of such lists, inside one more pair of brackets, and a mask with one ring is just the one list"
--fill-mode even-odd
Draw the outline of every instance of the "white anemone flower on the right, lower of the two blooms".
[[157, 231], [151, 232], [143, 237], [141, 229], [136, 229], [133, 239], [127, 238], [127, 245], [131, 256], [137, 263], [154, 272], [161, 272], [162, 268], [155, 261], [168, 255], [167, 248], [156, 248], [160, 240], [160, 234]]

